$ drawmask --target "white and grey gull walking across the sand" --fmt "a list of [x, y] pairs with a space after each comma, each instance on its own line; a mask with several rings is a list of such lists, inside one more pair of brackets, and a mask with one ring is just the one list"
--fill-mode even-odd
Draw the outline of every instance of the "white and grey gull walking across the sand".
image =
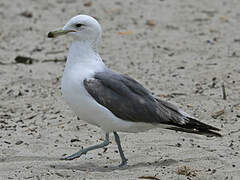
[[108, 69], [98, 53], [102, 28], [88, 15], [72, 17], [63, 28], [48, 33], [49, 38], [73, 38], [64, 69], [61, 90], [67, 104], [80, 119], [100, 127], [105, 140], [61, 158], [72, 160], [109, 144], [113, 133], [121, 163], [127, 165], [117, 132], [137, 133], [164, 128], [207, 136], [221, 136], [220, 129], [202, 123], [175, 105], [154, 97], [133, 78]]

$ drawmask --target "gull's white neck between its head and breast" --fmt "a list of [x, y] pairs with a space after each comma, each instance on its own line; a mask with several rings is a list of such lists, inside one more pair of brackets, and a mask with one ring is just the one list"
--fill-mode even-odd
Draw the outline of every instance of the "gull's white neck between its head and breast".
[[91, 43], [87, 41], [73, 41], [68, 58], [68, 64], [90, 64], [96, 63], [96, 61], [102, 63], [102, 59], [98, 54], [98, 43]]

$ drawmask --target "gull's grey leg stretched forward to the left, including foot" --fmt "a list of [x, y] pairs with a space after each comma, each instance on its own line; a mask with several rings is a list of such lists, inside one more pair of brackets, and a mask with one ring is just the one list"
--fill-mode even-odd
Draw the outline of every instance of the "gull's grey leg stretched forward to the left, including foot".
[[105, 147], [108, 144], [109, 144], [109, 133], [106, 133], [105, 140], [101, 144], [97, 144], [97, 145], [94, 145], [94, 146], [90, 146], [90, 147], [84, 148], [84, 149], [82, 149], [82, 150], [72, 154], [71, 156], [67, 156], [67, 157], [61, 158], [61, 160], [73, 160], [73, 159], [76, 159], [76, 158], [80, 157], [82, 154], [87, 154], [88, 151]]

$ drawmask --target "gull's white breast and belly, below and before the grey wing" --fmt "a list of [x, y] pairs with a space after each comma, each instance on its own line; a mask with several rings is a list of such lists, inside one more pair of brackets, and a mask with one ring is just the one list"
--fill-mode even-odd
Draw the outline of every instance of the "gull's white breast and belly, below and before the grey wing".
[[106, 132], [139, 132], [154, 127], [148, 123], [134, 123], [121, 120], [104, 106], [98, 104], [88, 94], [83, 85], [83, 80], [91, 78], [93, 74], [93, 71], [86, 69], [79, 72], [71, 68], [71, 71], [65, 70], [62, 78], [63, 97], [81, 120], [96, 125]]

